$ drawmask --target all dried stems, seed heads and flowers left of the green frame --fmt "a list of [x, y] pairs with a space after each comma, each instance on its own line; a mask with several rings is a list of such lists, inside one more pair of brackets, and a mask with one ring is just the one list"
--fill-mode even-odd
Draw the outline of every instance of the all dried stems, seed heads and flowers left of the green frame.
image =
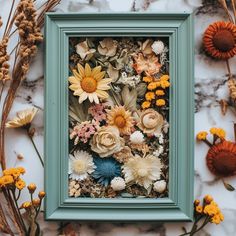
[[[60, 0], [48, 0], [36, 9], [35, 0], [20, 0], [18, 2], [12, 0], [7, 22], [3, 22], [0, 17], [0, 30], [3, 30], [0, 39], [0, 102], [3, 104], [0, 112], [0, 164], [2, 170], [0, 177], [2, 200], [0, 202], [0, 232], [7, 235], [41, 235], [37, 217], [45, 192], [39, 191], [38, 198], [34, 199], [36, 185], [28, 185], [30, 201], [19, 206], [19, 198], [26, 186], [24, 180], [21, 179], [25, 169], [22, 167], [6, 169], [5, 129], [25, 129], [43, 165], [43, 160], [33, 140], [35, 129], [31, 127], [37, 109], [20, 111], [13, 120], [7, 122], [7, 119], [17, 90], [21, 82], [25, 80], [30, 63], [43, 40], [41, 28], [44, 25], [45, 12], [52, 10], [59, 2]], [[5, 23], [4, 27], [3, 23]], [[14, 42], [16, 43], [14, 44]], [[5, 96], [3, 96], [3, 92], [6, 94]], [[22, 156], [18, 156], [18, 160], [22, 160], [22, 158]]]

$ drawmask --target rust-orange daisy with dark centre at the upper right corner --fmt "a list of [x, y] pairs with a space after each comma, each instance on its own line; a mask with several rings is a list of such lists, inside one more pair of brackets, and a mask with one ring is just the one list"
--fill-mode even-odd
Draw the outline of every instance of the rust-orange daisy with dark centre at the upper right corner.
[[231, 22], [217, 21], [208, 26], [203, 44], [206, 52], [215, 59], [229, 59], [236, 55], [236, 26]]

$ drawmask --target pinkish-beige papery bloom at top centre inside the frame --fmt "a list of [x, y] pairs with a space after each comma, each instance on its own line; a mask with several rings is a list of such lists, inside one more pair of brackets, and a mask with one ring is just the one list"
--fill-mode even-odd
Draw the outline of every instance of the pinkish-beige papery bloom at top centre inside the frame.
[[116, 54], [118, 42], [112, 38], [105, 38], [99, 42], [98, 52], [101, 55], [113, 57]]

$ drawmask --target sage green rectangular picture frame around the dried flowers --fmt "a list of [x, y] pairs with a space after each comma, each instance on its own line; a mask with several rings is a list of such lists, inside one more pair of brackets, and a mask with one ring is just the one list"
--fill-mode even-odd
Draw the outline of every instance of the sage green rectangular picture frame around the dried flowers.
[[[189, 13], [46, 15], [45, 202], [46, 220], [191, 221], [194, 175], [193, 17]], [[69, 37], [169, 38], [169, 197], [68, 197]]]

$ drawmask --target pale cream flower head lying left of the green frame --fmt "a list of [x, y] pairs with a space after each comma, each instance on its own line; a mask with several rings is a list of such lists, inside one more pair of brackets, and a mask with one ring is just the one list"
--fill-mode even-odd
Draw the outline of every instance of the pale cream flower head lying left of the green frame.
[[35, 107], [17, 112], [17, 116], [13, 120], [10, 120], [6, 123], [6, 127], [7, 128], [26, 127], [31, 124], [37, 112], [38, 109]]

